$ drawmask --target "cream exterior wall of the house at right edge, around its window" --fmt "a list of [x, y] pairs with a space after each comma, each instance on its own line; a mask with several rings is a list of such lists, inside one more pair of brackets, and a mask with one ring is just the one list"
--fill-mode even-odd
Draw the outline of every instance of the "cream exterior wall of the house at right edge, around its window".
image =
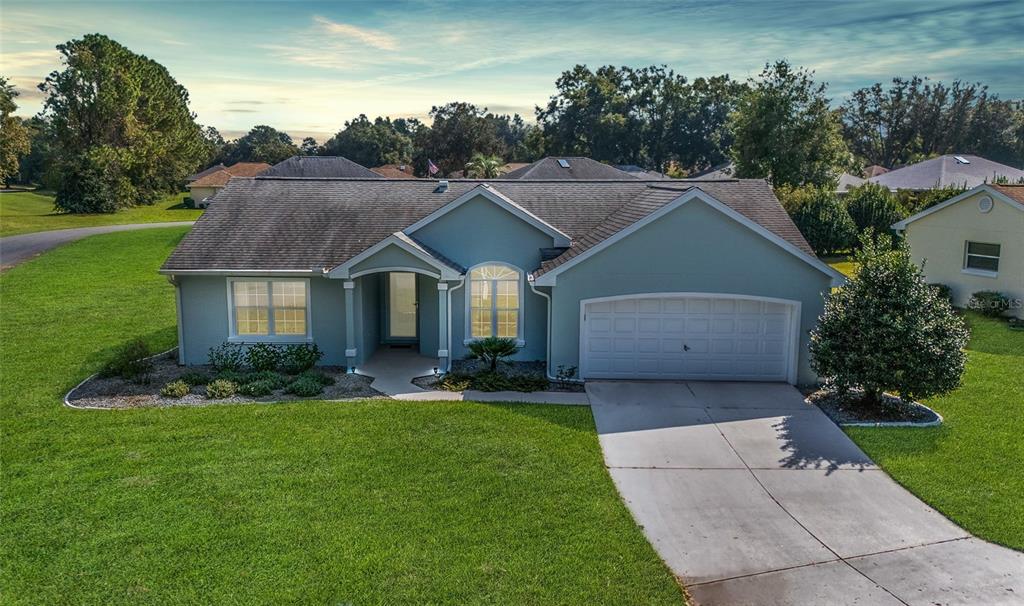
[[[953, 303], [966, 306], [978, 291], [998, 291], [1024, 301], [1024, 213], [999, 200], [988, 213], [978, 210], [979, 191], [906, 226], [906, 240], [914, 261], [925, 262], [930, 283], [949, 286]], [[993, 197], [994, 198], [994, 197]], [[1001, 245], [995, 277], [964, 272], [968, 241]], [[1018, 306], [1011, 313], [1024, 317]]]

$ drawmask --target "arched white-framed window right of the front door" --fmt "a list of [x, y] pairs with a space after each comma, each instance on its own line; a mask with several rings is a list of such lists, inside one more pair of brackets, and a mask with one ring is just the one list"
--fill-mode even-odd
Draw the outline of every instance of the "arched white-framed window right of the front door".
[[521, 276], [515, 267], [499, 263], [470, 270], [467, 313], [470, 339], [519, 337]]

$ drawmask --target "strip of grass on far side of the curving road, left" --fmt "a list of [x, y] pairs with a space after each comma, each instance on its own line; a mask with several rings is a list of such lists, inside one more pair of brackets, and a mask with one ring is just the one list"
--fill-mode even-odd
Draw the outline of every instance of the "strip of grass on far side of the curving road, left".
[[176, 193], [153, 206], [138, 206], [116, 213], [69, 215], [54, 212], [52, 196], [35, 191], [5, 191], [0, 193], [0, 236], [93, 225], [193, 221], [203, 211], [186, 209], [181, 203], [186, 196]]

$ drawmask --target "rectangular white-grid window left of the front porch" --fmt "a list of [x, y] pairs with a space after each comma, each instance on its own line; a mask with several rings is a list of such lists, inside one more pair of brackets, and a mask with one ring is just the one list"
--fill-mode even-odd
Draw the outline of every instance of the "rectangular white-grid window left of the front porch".
[[306, 280], [232, 279], [232, 333], [237, 337], [308, 334]]

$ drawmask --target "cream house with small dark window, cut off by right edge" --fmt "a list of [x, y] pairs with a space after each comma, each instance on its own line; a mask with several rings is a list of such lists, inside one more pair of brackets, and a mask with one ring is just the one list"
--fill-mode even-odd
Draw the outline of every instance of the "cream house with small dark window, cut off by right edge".
[[[1024, 301], [1024, 185], [979, 185], [893, 225], [925, 276], [967, 305], [978, 291]], [[1018, 306], [1013, 313], [1024, 317]]]

